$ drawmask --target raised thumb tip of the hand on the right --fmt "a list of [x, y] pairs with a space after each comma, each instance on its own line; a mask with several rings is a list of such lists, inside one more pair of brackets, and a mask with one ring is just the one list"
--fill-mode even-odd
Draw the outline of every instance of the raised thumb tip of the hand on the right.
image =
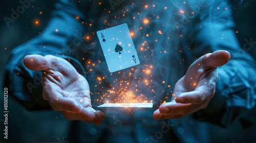
[[219, 50], [212, 54], [206, 54], [202, 57], [204, 70], [216, 68], [226, 64], [230, 59], [230, 54], [227, 51]]

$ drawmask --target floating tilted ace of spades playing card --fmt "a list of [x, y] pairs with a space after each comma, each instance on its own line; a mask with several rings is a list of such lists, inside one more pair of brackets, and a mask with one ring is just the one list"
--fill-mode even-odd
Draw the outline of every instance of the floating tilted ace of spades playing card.
[[97, 31], [110, 73], [140, 63], [126, 23]]

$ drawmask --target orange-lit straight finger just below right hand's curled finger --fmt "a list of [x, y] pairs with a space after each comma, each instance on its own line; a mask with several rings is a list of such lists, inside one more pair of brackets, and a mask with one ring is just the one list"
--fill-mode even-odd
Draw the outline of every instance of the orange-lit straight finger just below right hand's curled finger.
[[188, 115], [193, 112], [193, 104], [181, 104], [176, 102], [163, 103], [159, 107], [159, 112], [169, 115]]

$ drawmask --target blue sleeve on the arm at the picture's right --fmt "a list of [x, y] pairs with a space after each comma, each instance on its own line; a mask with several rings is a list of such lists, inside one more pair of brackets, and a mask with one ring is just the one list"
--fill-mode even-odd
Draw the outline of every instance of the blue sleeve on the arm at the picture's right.
[[225, 1], [215, 1], [206, 11], [200, 14], [196, 34], [190, 39], [196, 45], [195, 56], [226, 50], [231, 58], [227, 64], [217, 68], [219, 78], [215, 97], [206, 109], [196, 112], [194, 117], [224, 127], [234, 120], [240, 120], [242, 125], [255, 123], [256, 64], [247, 53], [253, 42], [240, 46], [233, 30], [231, 7]]

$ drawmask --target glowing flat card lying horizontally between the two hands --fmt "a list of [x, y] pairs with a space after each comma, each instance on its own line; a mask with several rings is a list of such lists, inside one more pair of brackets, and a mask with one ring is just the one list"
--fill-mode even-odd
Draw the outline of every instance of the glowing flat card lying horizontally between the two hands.
[[152, 108], [153, 103], [104, 103], [98, 107], [134, 107], [134, 108]]

